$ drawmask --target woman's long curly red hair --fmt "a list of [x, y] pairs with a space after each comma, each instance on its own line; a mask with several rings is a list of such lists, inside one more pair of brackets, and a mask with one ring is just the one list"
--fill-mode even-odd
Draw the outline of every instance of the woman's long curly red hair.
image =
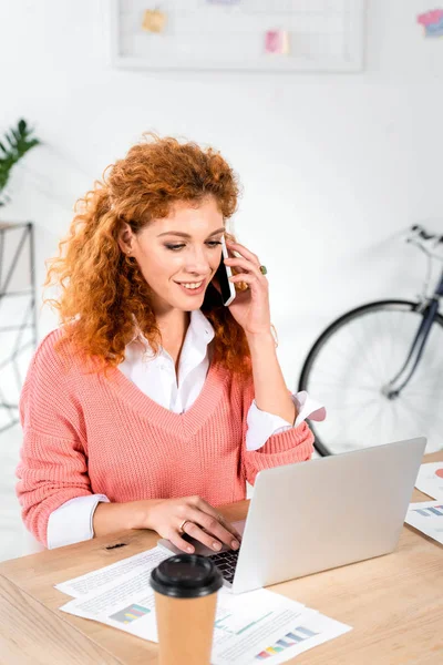
[[[137, 234], [152, 219], [166, 217], [174, 203], [198, 205], [206, 196], [216, 200], [226, 221], [236, 209], [238, 194], [236, 175], [218, 152], [145, 134], [78, 201], [60, 254], [49, 260], [44, 286], [60, 285], [61, 295], [45, 303], [59, 310], [60, 323], [65, 324], [63, 340], [99, 360], [94, 362], [99, 369], [124, 360], [136, 326], [157, 352], [161, 334], [148, 285], [135, 258], [125, 256], [117, 243], [123, 225]], [[215, 330], [214, 361], [231, 371], [247, 371], [250, 355], [245, 332], [213, 284], [202, 311]]]

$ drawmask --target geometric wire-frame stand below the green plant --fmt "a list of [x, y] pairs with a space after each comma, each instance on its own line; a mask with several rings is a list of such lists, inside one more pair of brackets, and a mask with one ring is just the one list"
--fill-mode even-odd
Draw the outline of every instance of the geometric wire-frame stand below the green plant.
[[37, 345], [34, 279], [32, 223], [0, 222], [0, 433], [19, 422], [20, 390]]

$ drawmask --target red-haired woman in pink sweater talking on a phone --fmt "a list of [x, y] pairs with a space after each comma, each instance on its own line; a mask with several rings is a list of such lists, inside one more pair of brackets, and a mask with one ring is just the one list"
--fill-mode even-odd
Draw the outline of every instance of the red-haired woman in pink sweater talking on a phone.
[[[216, 507], [310, 459], [313, 402], [285, 386], [266, 270], [225, 231], [237, 196], [217, 152], [151, 136], [81, 200], [47, 280], [63, 326], [20, 400], [17, 494], [43, 545], [153, 529], [187, 552], [184, 533], [237, 549]], [[223, 235], [229, 307], [213, 282]]]

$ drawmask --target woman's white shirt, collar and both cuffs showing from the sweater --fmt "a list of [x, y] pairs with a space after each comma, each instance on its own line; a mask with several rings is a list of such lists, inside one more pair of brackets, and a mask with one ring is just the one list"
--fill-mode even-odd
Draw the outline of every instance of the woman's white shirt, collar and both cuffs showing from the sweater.
[[[141, 335], [126, 346], [125, 360], [119, 365], [119, 369], [152, 400], [174, 413], [183, 413], [202, 392], [209, 369], [209, 342], [213, 339], [213, 326], [197, 309], [190, 313], [179, 357], [178, 377], [169, 354], [161, 347], [154, 357], [147, 340]], [[297, 427], [308, 417], [312, 420], [324, 419], [324, 408], [306, 391], [292, 395], [292, 400], [298, 410], [293, 424], [279, 416], [261, 411], [253, 401], [247, 416], [247, 450], [258, 450], [271, 434]], [[110, 503], [105, 494], [90, 494], [71, 499], [54, 510], [48, 522], [48, 549], [94, 538], [93, 514], [101, 501]]]

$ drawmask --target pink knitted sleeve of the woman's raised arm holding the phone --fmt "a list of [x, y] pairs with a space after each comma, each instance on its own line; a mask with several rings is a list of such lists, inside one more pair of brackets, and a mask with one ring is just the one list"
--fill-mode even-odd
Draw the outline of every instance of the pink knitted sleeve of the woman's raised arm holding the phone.
[[239, 381], [240, 399], [243, 401], [243, 444], [241, 466], [246, 480], [254, 485], [256, 475], [262, 469], [284, 467], [311, 459], [313, 451], [313, 434], [306, 421], [287, 431], [271, 434], [258, 450], [248, 450], [246, 433], [247, 416], [254, 400], [254, 380], [249, 375]]

